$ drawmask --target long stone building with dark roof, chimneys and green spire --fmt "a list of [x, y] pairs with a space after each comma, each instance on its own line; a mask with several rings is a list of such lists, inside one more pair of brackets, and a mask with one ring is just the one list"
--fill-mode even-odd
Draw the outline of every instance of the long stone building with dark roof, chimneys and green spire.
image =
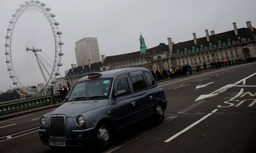
[[[158, 46], [146, 49], [145, 54], [140, 50], [137, 52], [113, 55], [106, 57], [101, 65], [101, 71], [126, 68], [126, 67], [149, 67], [146, 60], [151, 57], [150, 64], [152, 70], [169, 69], [171, 67], [183, 66], [185, 64], [195, 67], [204, 62], [210, 64], [217, 61], [228, 61], [237, 59], [247, 59], [256, 57], [256, 29], [247, 22], [247, 28], [237, 28], [233, 23], [234, 30], [215, 34], [205, 30], [205, 37], [196, 38], [193, 33], [193, 39], [175, 44], [171, 38], [168, 38], [168, 45], [160, 43]], [[140, 41], [142, 39], [140, 36]], [[140, 42], [145, 48], [145, 42]]]

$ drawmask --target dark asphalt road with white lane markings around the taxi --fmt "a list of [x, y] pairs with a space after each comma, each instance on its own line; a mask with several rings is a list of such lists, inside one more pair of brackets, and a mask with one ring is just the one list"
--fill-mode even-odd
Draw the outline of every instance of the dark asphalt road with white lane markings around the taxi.
[[[164, 123], [147, 119], [118, 131], [103, 152], [256, 152], [255, 80], [256, 63], [249, 63], [157, 83], [168, 99]], [[0, 121], [1, 152], [56, 152], [37, 132], [48, 111]]]

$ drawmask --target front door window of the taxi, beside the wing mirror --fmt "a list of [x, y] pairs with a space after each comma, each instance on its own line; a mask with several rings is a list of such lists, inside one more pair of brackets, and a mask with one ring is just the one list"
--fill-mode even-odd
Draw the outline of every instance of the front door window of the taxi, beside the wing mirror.
[[114, 85], [114, 90], [115, 90], [115, 93], [117, 91], [120, 91], [120, 90], [125, 90], [126, 94], [131, 93], [126, 75], [121, 75], [120, 77], [116, 78], [115, 85]]

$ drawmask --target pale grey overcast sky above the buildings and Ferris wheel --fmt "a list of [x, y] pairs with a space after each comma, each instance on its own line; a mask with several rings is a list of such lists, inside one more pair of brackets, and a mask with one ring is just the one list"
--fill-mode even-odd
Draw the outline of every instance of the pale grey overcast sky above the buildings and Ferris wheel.
[[[0, 5], [0, 91], [14, 87], [7, 71], [4, 55], [7, 28], [12, 14], [22, 0], [1, 1]], [[76, 64], [75, 42], [85, 37], [98, 39], [100, 54], [117, 55], [136, 52], [140, 49], [140, 32], [147, 48], [159, 43], [185, 42], [197, 37], [205, 37], [214, 25], [215, 33], [233, 30], [233, 22], [238, 28], [246, 27], [247, 21], [256, 26], [255, 0], [45, 0], [46, 7], [56, 14], [60, 23], [63, 66], [60, 73]]]

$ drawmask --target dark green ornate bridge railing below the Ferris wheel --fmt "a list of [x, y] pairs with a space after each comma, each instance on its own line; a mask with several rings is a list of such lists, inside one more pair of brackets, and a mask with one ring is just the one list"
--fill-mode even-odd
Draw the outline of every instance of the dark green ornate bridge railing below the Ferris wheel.
[[[58, 101], [61, 101], [60, 94], [56, 94], [55, 97]], [[0, 115], [37, 108], [49, 104], [51, 104], [51, 95], [37, 96], [35, 98], [28, 98], [11, 102], [2, 102], [0, 103]]]

